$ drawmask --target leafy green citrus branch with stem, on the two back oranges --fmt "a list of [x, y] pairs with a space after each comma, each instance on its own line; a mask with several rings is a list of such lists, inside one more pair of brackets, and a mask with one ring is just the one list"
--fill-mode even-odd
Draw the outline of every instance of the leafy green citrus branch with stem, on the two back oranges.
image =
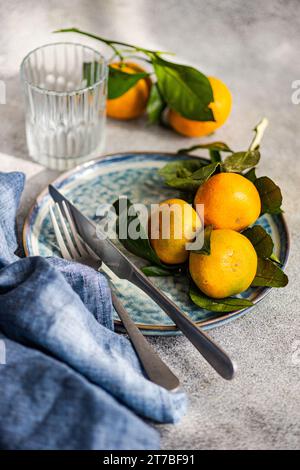
[[[162, 110], [165, 106], [177, 111], [187, 119], [198, 121], [214, 121], [214, 115], [209, 105], [214, 101], [211, 84], [208, 78], [194, 67], [170, 62], [162, 58], [164, 54], [171, 52], [146, 49], [135, 44], [108, 39], [96, 34], [81, 31], [78, 28], [64, 28], [54, 31], [55, 33], [77, 33], [101, 41], [112, 49], [121, 63], [124, 62], [125, 54], [141, 54], [139, 59], [147, 60], [153, 67], [156, 83], [151, 95], [151, 109], [155, 105], [151, 122], [160, 120]], [[119, 46], [122, 48], [120, 49]], [[109, 70], [108, 95], [110, 99], [117, 98], [126, 93], [142, 77], [140, 74], [129, 74], [119, 70]], [[150, 101], [150, 100], [149, 100]], [[149, 113], [148, 113], [149, 115]]]

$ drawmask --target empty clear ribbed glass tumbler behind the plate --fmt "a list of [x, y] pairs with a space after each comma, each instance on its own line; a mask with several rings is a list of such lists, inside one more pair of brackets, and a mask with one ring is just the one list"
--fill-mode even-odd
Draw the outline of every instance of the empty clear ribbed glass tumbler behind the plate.
[[101, 153], [105, 144], [108, 68], [94, 49], [48, 44], [21, 64], [30, 156], [66, 170]]

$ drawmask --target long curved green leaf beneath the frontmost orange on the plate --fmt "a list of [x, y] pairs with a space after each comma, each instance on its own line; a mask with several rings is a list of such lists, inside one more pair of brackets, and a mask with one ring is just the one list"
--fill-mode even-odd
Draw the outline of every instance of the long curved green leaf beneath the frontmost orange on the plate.
[[194, 304], [198, 305], [198, 307], [210, 310], [211, 312], [235, 312], [253, 305], [251, 300], [239, 299], [237, 297], [212, 299], [203, 294], [203, 292], [194, 285], [190, 288], [189, 295]]

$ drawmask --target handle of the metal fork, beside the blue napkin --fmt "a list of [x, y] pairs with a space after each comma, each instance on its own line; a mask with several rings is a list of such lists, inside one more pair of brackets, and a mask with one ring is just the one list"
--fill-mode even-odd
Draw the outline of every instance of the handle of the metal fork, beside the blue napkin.
[[122, 320], [122, 323], [149, 379], [157, 385], [166, 388], [167, 390], [175, 391], [178, 389], [180, 383], [176, 375], [173, 374], [169, 367], [154, 351], [150, 343], [148, 343], [148, 341], [144, 338], [140, 330], [130, 318], [125, 307], [113, 291], [111, 292], [111, 297], [113, 306]]

